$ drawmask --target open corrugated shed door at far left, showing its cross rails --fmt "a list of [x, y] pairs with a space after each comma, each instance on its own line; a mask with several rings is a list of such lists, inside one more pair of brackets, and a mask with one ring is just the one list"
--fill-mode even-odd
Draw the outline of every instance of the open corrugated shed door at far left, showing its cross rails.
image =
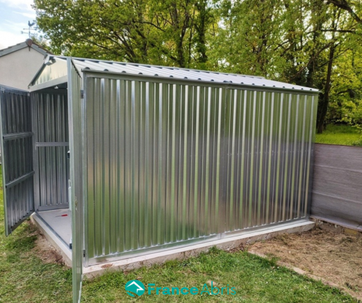
[[0, 86], [1, 160], [5, 233], [34, 211], [33, 132], [28, 92]]

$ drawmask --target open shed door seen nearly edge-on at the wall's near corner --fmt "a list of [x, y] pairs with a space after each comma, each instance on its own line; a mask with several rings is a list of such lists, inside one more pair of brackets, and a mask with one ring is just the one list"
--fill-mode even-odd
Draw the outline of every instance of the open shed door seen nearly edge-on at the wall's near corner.
[[69, 204], [72, 211], [73, 302], [81, 301], [83, 275], [83, 166], [81, 76], [71, 60], [68, 68], [68, 116], [70, 150]]

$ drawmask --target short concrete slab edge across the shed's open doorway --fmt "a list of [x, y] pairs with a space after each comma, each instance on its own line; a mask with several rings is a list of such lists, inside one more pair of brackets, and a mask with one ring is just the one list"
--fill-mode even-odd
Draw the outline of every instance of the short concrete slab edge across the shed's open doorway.
[[63, 243], [54, 232], [42, 221], [42, 219], [33, 213], [30, 216], [31, 222], [38, 227], [41, 234], [45, 236], [45, 239], [56, 249], [56, 251], [63, 257], [63, 261], [66, 266], [72, 267], [72, 250], [69, 250], [67, 245]]

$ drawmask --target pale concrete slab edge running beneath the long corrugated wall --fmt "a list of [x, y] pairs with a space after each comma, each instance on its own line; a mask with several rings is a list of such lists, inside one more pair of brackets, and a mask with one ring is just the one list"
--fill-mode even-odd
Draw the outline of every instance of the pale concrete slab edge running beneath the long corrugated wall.
[[231, 250], [238, 248], [245, 243], [254, 243], [265, 239], [270, 239], [279, 234], [291, 234], [295, 232], [306, 232], [313, 229], [314, 222], [302, 221], [297, 223], [283, 223], [273, 228], [267, 228], [265, 230], [256, 230], [254, 232], [244, 232], [236, 236], [229, 236], [223, 239], [217, 239], [214, 241], [208, 241], [206, 243], [199, 243], [195, 245], [189, 245], [183, 248], [175, 248], [172, 250], [166, 250], [163, 252], [154, 252], [151, 254], [145, 254], [139, 257], [133, 257], [129, 259], [123, 259], [120, 261], [113, 261], [108, 263], [97, 264], [83, 268], [83, 277], [93, 279], [99, 275], [103, 275], [106, 272], [115, 270], [134, 270], [142, 266], [152, 266], [156, 263], [165, 263], [170, 260], [181, 260], [188, 257], [195, 257], [201, 252], [207, 252], [210, 248], [216, 246], [222, 250]]

